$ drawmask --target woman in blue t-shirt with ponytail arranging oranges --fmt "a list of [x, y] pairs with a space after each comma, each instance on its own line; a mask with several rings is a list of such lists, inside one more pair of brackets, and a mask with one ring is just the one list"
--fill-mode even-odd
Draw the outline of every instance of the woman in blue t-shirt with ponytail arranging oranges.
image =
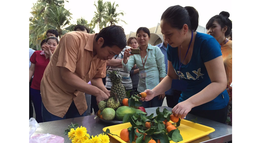
[[167, 8], [161, 17], [161, 32], [168, 42], [167, 76], [152, 90], [145, 90], [149, 101], [170, 88], [181, 90], [179, 103], [172, 109], [184, 119], [189, 113], [225, 123], [229, 96], [220, 44], [211, 35], [195, 32], [195, 8], [179, 5]]

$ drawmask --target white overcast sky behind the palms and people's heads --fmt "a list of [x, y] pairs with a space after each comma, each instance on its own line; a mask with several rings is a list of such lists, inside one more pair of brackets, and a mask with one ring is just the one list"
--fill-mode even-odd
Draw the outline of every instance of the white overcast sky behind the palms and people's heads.
[[[37, 2], [37, 0], [30, 1], [31, 7], [33, 7], [33, 3]], [[125, 34], [129, 34], [130, 31], [136, 32], [139, 27], [155, 27], [157, 23], [160, 23], [162, 13], [168, 7], [173, 5], [195, 7], [199, 13], [199, 25], [203, 27], [205, 27], [206, 23], [211, 17], [218, 15], [221, 11], [229, 12], [229, 19], [232, 20], [231, 4], [225, 4], [225, 1], [223, 0], [103, 0], [103, 2], [107, 1], [110, 1], [111, 4], [113, 4], [113, 2], [115, 2], [115, 4], [119, 4], [117, 11], [122, 10], [126, 13], [123, 17], [120, 17], [127, 23], [127, 25], [122, 22], [120, 23], [124, 28]], [[96, 8], [93, 4], [94, 0], [69, 0], [69, 3], [65, 2], [65, 8], [70, 10], [72, 13], [71, 17], [73, 19], [71, 19], [71, 24], [74, 24], [77, 18], [81, 17], [90, 23], [94, 16], [94, 11], [96, 11]], [[97, 0], [95, 0], [95, 4], [97, 5]], [[31, 17], [30, 13], [28, 17]], [[94, 30], [96, 33], [99, 32], [98, 28], [95, 28]]]

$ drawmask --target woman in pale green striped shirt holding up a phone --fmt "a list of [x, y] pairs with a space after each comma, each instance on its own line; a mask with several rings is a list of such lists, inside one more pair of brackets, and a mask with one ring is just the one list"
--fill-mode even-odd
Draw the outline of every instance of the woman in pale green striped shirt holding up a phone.
[[[135, 64], [137, 65], [140, 69], [140, 79], [137, 90], [138, 92], [143, 92], [146, 89], [153, 89], [166, 76], [164, 54], [159, 47], [148, 44], [148, 40], [150, 39], [150, 31], [148, 28], [138, 28], [136, 36], [138, 44], [140, 45], [138, 48], [141, 50], [141, 54], [131, 55], [131, 50], [126, 49], [122, 65], [125, 72], [129, 72]], [[127, 60], [129, 56], [130, 58]], [[162, 106], [164, 97], [165, 94], [163, 92], [150, 101], [142, 102], [142, 106], [144, 108]]]

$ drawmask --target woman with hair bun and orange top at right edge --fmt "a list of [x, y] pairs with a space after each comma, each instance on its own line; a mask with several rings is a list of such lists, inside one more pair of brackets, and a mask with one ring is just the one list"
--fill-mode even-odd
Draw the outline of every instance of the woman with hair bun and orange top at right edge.
[[229, 13], [220, 12], [219, 15], [212, 17], [206, 24], [207, 34], [213, 36], [221, 46], [222, 59], [227, 76], [226, 89], [229, 95], [228, 117], [226, 123], [232, 125], [232, 41], [229, 37], [232, 30], [232, 22], [229, 19]]

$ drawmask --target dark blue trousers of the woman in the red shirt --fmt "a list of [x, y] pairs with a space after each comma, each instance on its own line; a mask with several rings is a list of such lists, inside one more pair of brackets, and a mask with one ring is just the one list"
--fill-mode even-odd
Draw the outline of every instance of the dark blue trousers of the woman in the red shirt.
[[[33, 88], [29, 88], [29, 92], [30, 92], [30, 97], [31, 100], [33, 101], [33, 105], [34, 105], [34, 109], [35, 109], [35, 113], [36, 113], [36, 121], [37, 123], [42, 123], [43, 119], [42, 119], [42, 98], [41, 98], [41, 94], [40, 94], [40, 90], [36, 90]], [[32, 108], [33, 110], [33, 108]], [[33, 117], [33, 115], [32, 115]]]

